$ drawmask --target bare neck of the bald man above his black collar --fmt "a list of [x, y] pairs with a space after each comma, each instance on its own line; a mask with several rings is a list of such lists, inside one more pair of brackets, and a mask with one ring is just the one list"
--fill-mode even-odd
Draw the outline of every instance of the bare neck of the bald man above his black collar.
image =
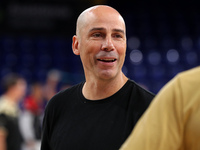
[[83, 86], [83, 95], [90, 100], [100, 100], [115, 94], [127, 82], [128, 78], [122, 73], [111, 80], [89, 80]]

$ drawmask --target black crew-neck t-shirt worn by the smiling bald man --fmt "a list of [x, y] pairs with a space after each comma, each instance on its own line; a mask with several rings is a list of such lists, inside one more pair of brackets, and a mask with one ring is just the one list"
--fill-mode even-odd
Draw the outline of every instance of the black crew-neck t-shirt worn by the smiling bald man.
[[83, 84], [49, 101], [41, 150], [117, 150], [154, 97], [128, 80], [114, 95], [92, 101], [84, 98]]

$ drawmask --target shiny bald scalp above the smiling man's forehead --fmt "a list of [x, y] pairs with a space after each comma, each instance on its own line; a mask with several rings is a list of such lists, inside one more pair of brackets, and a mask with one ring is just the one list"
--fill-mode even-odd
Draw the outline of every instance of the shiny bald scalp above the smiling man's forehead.
[[119, 19], [122, 22], [122, 24], [124, 24], [125, 28], [124, 19], [116, 9], [106, 5], [97, 5], [84, 10], [79, 15], [77, 19], [76, 35], [80, 36], [81, 30], [84, 29], [87, 23], [90, 22], [90, 19], [95, 19], [95, 17], [106, 18], [108, 15], [112, 15], [112, 17], [116, 17], [116, 19]]

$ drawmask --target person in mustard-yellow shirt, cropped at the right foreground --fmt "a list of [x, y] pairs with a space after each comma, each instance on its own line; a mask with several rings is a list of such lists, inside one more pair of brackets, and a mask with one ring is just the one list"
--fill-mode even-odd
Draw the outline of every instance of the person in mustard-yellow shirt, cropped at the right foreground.
[[199, 75], [196, 67], [165, 85], [121, 150], [199, 150]]

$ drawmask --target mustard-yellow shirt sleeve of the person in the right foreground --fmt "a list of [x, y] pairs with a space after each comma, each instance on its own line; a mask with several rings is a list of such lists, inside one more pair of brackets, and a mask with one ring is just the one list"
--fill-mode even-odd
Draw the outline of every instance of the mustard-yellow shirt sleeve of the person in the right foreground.
[[182, 98], [178, 79], [155, 97], [120, 150], [175, 150], [183, 135]]

